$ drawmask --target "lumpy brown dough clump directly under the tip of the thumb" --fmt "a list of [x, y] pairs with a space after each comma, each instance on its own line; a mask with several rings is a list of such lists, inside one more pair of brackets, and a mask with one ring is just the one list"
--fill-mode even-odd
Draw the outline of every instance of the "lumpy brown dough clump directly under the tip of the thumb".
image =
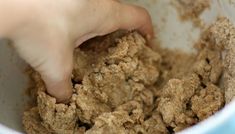
[[70, 103], [70, 106], [56, 104], [56, 99], [46, 95], [44, 92], [38, 93], [37, 100], [42, 125], [45, 128], [57, 133], [74, 133], [77, 121], [75, 103]]

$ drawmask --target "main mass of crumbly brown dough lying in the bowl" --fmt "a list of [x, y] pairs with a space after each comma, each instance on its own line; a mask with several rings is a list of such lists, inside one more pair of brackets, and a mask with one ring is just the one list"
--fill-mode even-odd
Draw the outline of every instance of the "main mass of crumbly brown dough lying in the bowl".
[[220, 110], [223, 72], [221, 45], [209, 27], [198, 54], [147, 46], [137, 32], [114, 33], [75, 50], [73, 96], [57, 104], [40, 75], [30, 70], [25, 111], [28, 134], [167, 134], [180, 131]]

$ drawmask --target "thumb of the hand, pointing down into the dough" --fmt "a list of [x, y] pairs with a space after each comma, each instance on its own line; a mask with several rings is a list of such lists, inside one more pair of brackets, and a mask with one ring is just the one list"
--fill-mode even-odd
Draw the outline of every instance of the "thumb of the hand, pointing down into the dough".
[[63, 41], [45, 43], [35, 40], [17, 40], [14, 43], [20, 56], [41, 74], [47, 92], [57, 102], [67, 101], [72, 95], [72, 45]]

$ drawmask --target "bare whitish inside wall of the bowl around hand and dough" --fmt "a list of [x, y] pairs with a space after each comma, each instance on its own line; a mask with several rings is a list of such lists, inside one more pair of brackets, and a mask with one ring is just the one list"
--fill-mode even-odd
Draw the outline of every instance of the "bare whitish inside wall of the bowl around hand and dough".
[[[179, 17], [172, 0], [123, 0], [145, 7], [151, 14], [158, 41], [163, 47], [181, 49], [193, 53], [193, 44], [198, 40], [200, 28], [191, 21]], [[221, 8], [221, 1], [222, 7]], [[233, 17], [235, 7], [228, 4], [230, 0], [212, 0], [211, 8], [203, 12], [200, 18], [209, 25], [218, 15]], [[226, 7], [228, 6], [228, 7]], [[233, 22], [235, 22], [235, 17]], [[25, 101], [24, 89], [27, 77], [24, 74], [25, 63], [7, 45], [0, 41], [0, 124], [22, 132], [21, 116]]]

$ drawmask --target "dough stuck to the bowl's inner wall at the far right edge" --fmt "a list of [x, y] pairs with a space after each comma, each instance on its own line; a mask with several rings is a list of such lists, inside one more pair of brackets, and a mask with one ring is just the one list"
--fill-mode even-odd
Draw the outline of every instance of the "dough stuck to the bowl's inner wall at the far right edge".
[[229, 103], [235, 97], [235, 28], [228, 19], [219, 18], [208, 31], [205, 36], [207, 40], [212, 40], [216, 46], [225, 49], [223, 78], [225, 99]]

